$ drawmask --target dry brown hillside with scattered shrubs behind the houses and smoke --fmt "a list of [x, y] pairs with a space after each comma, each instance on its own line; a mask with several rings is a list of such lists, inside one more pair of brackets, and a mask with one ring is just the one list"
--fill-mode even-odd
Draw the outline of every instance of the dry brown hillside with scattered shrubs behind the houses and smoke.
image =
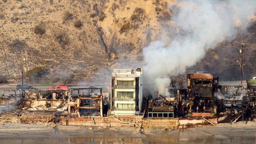
[[[1, 0], [0, 6], [0, 75], [9, 80], [20, 78], [22, 55], [26, 73], [42, 69], [33, 75], [39, 81], [98, 78], [111, 68], [135, 68], [143, 65], [142, 49], [150, 42], [168, 43], [179, 33], [171, 21], [180, 7], [176, 0]], [[247, 53], [255, 54], [255, 31], [256, 24], [224, 41], [195, 68], [233, 63], [242, 41]], [[239, 67], [232, 68], [225, 79], [239, 79]], [[254, 71], [245, 68], [246, 77]], [[220, 75], [223, 69], [209, 72]]]

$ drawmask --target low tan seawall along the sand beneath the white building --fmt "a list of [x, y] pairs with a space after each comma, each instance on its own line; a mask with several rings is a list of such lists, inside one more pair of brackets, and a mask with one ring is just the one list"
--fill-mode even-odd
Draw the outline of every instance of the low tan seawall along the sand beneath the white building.
[[[139, 117], [123, 117], [123, 119], [130, 119], [136, 122], [142, 122], [142, 126], [145, 128], [189, 128], [209, 126], [210, 123], [200, 118], [139, 118]], [[207, 118], [213, 124], [217, 124], [217, 117]], [[108, 127], [122, 127], [132, 126], [124, 125], [113, 117], [77, 117], [77, 118], [65, 118], [62, 120], [62, 125], [72, 126], [108, 126]]]

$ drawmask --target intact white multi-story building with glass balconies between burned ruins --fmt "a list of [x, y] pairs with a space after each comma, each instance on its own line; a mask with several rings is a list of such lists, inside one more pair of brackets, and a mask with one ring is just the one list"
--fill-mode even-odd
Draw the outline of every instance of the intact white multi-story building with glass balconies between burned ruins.
[[111, 113], [141, 112], [142, 69], [113, 69], [111, 74]]

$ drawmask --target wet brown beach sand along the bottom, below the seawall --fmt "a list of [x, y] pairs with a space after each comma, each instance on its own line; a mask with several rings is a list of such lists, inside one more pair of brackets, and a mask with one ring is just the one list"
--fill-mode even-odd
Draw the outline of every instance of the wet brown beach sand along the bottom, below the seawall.
[[[4, 124], [4, 126], [2, 126]], [[189, 129], [145, 129], [135, 127], [47, 126], [0, 124], [0, 144], [255, 144], [256, 122], [218, 124]]]

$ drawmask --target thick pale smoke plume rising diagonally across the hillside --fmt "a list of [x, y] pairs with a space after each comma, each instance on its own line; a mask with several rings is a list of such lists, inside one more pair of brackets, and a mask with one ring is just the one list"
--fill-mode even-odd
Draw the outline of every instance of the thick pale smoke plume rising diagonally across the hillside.
[[255, 0], [184, 0], [171, 20], [180, 33], [169, 43], [151, 42], [143, 49], [144, 85], [150, 94], [166, 95], [170, 76], [185, 72], [224, 39], [233, 39], [252, 22]]

